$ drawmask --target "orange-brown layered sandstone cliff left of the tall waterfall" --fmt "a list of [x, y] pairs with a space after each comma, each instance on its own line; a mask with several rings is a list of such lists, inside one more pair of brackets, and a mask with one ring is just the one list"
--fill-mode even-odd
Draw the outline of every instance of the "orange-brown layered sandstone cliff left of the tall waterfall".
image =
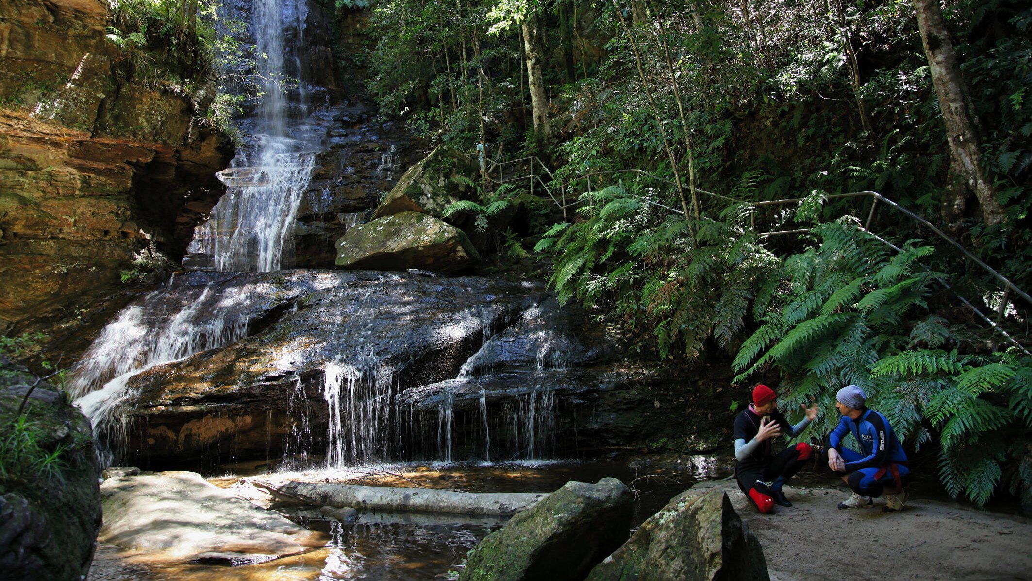
[[117, 283], [150, 241], [184, 252], [232, 157], [207, 102], [114, 73], [107, 3], [0, 6], [0, 327]]

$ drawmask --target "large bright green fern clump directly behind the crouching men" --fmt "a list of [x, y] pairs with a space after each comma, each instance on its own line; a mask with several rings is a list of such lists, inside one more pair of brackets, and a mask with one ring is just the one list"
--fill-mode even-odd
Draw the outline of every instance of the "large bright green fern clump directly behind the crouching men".
[[[962, 352], [963, 338], [927, 312], [940, 277], [922, 267], [930, 247], [910, 240], [886, 255], [848, 220], [813, 232], [817, 247], [785, 259], [792, 291], [743, 342], [734, 361], [738, 380], [777, 368], [788, 406], [816, 399], [826, 411], [840, 386], [860, 385], [915, 448], [937, 432], [946, 490], [986, 504], [1001, 483], [1006, 444], [1027, 442], [1032, 429], [1032, 357]], [[809, 429], [826, 432], [834, 419], [826, 412]], [[1027, 490], [1022, 474], [1014, 486]]]

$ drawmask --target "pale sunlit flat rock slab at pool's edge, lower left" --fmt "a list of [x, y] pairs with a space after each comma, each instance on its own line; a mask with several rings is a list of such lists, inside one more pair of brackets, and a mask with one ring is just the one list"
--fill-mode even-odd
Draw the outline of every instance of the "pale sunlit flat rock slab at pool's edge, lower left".
[[140, 560], [250, 564], [322, 547], [326, 539], [190, 472], [110, 478], [100, 487], [99, 540]]

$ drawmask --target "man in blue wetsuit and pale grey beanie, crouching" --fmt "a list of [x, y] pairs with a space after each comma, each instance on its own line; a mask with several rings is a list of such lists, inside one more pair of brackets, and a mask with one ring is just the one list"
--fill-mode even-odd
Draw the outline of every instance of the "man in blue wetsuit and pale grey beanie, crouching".
[[[828, 435], [828, 467], [842, 477], [853, 494], [839, 503], [840, 509], [868, 509], [874, 497], [884, 491], [884, 512], [903, 510], [906, 491], [903, 477], [909, 470], [906, 452], [889, 420], [866, 406], [867, 394], [856, 385], [847, 385], [836, 394], [835, 407], [842, 418]], [[842, 447], [846, 435], [852, 434], [860, 452]]]

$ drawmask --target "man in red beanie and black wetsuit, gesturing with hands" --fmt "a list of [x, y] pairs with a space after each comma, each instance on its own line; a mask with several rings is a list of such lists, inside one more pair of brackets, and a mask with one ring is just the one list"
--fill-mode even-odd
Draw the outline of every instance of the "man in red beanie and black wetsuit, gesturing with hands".
[[777, 394], [766, 385], [752, 389], [752, 404], [735, 418], [735, 478], [742, 492], [752, 501], [762, 513], [774, 510], [774, 505], [791, 507], [784, 496], [782, 486], [806, 464], [813, 454], [809, 444], [789, 446], [781, 453], [772, 452], [773, 440], [785, 433], [795, 438], [817, 417], [820, 409], [816, 404], [807, 408], [803, 421], [792, 425], [777, 410]]

